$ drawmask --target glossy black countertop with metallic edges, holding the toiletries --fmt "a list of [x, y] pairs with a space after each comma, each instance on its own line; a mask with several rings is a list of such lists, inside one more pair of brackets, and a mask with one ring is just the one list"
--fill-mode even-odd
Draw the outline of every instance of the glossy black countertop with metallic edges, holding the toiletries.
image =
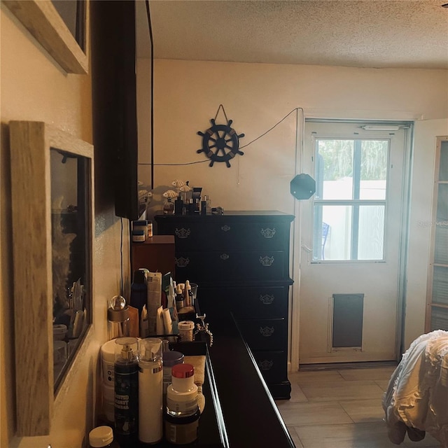
[[[197, 308], [197, 311], [199, 309]], [[250, 349], [230, 311], [205, 319], [214, 342], [179, 342], [172, 349], [185, 355], [206, 355], [203, 386], [205, 408], [199, 437], [184, 447], [295, 448]], [[127, 447], [143, 448], [143, 443]], [[152, 447], [179, 447], [165, 440]], [[122, 447], [123, 448], [123, 447]]]

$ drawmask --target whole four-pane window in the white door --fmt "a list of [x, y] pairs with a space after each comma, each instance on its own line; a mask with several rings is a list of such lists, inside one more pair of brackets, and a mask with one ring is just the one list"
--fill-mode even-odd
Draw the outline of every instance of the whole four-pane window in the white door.
[[316, 139], [313, 260], [384, 260], [388, 139]]

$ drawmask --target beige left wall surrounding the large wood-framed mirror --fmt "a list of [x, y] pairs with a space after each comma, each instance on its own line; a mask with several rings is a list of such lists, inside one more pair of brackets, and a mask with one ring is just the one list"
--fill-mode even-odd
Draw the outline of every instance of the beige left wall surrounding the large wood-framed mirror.
[[[1, 25], [1, 258], [0, 258], [0, 446], [79, 448], [93, 424], [99, 345], [106, 339], [106, 300], [120, 292], [120, 221], [113, 210], [97, 215], [94, 241], [94, 325], [55, 400], [49, 436], [15, 436], [13, 244], [9, 120], [40, 120], [92, 142], [89, 75], [66, 74], [3, 3]], [[96, 161], [101, 163], [100, 160]], [[97, 182], [101, 182], [97, 179]], [[24, 197], [22, 207], [32, 197]], [[108, 223], [106, 225], [106, 223]], [[112, 223], [112, 225], [111, 225]], [[124, 225], [127, 228], [127, 225]], [[125, 241], [127, 239], [125, 238]], [[127, 244], [123, 253], [127, 253]], [[125, 255], [126, 256], [126, 255]], [[125, 263], [126, 269], [126, 263]], [[128, 272], [125, 272], [127, 275]], [[32, 297], [30, 297], [32, 300]], [[26, 387], [24, 385], [23, 387]]]

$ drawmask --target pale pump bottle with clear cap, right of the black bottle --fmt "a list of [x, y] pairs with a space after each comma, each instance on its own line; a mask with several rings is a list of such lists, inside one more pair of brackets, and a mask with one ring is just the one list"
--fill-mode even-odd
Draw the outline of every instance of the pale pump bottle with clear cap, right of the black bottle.
[[147, 337], [139, 341], [139, 440], [162, 440], [163, 370], [162, 339]]

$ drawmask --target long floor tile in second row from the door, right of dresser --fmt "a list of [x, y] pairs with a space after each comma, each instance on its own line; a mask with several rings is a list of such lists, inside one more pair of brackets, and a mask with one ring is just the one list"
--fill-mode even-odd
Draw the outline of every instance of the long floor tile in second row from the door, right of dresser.
[[326, 381], [321, 384], [301, 384], [300, 388], [309, 401], [374, 400], [383, 394], [374, 381]]

